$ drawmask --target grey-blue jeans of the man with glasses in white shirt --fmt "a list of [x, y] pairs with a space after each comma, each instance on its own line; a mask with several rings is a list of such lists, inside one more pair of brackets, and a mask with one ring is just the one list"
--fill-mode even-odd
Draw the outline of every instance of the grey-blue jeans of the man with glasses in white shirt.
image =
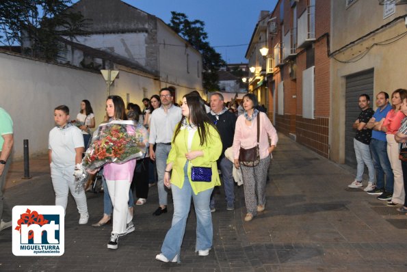
[[170, 153], [171, 146], [166, 144], [157, 144], [155, 149], [155, 165], [157, 167], [157, 187], [158, 187], [158, 201], [160, 205], [167, 206], [168, 193], [164, 186], [164, 172], [166, 171], [168, 154]]

